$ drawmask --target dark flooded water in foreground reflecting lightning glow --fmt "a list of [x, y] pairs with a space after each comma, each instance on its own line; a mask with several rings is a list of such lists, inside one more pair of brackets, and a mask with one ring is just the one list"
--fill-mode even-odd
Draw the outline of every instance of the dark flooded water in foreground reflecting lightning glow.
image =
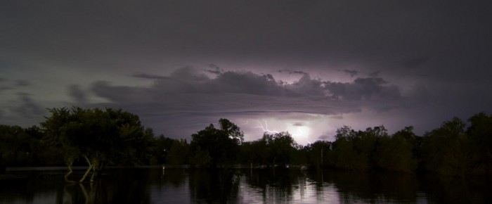
[[[82, 176], [82, 170], [74, 177]], [[491, 203], [482, 178], [302, 170], [105, 170], [94, 184], [63, 181], [65, 171], [10, 171], [0, 203]]]

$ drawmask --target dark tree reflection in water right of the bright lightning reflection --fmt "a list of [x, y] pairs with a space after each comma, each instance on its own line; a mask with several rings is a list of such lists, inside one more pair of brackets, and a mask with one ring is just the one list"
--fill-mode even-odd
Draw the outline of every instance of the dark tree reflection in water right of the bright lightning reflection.
[[[489, 203], [492, 200], [490, 181], [462, 177], [340, 171], [309, 172], [308, 177], [316, 181], [317, 191], [323, 191], [326, 184], [334, 185], [341, 203], [415, 203], [417, 199], [429, 203]], [[425, 198], [419, 198], [424, 195]]]

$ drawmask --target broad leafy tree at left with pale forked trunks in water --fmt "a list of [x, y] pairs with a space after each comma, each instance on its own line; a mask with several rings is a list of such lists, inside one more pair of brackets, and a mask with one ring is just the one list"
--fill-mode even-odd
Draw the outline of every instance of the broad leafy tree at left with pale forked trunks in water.
[[53, 108], [51, 115], [41, 122], [51, 143], [59, 146], [69, 169], [78, 158], [84, 158], [89, 167], [79, 180], [84, 181], [89, 172], [101, 170], [107, 162], [129, 160], [136, 162], [145, 157], [145, 145], [152, 138], [145, 134], [137, 115], [112, 108]]

